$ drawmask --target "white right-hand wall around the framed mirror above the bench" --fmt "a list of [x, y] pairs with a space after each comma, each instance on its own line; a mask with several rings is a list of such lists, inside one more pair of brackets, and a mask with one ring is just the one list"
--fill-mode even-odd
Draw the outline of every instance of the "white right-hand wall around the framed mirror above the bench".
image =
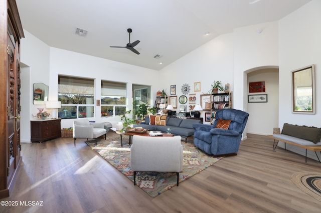
[[[279, 21], [279, 127], [283, 123], [321, 127], [321, 1], [312, 0]], [[315, 64], [316, 114], [294, 114], [291, 105], [291, 70]], [[305, 155], [302, 148], [287, 145]], [[308, 156], [316, 159], [308, 150]]]

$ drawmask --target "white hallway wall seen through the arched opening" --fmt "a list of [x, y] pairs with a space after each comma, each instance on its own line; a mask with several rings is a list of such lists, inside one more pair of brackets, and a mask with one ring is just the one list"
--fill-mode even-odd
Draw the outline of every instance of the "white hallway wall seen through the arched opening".
[[[253, 134], [272, 134], [273, 127], [278, 127], [279, 75], [278, 69], [259, 69], [247, 74], [247, 82], [265, 81], [265, 92], [248, 94], [267, 94], [267, 102], [247, 103], [251, 113], [247, 121], [247, 132]], [[249, 83], [247, 83], [247, 92]]]

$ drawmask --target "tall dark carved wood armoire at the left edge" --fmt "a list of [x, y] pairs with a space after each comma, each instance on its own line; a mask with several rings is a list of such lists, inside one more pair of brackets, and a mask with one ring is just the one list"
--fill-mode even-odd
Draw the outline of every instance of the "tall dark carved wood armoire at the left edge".
[[24, 37], [15, 0], [0, 0], [0, 198], [10, 195], [21, 161], [20, 39]]

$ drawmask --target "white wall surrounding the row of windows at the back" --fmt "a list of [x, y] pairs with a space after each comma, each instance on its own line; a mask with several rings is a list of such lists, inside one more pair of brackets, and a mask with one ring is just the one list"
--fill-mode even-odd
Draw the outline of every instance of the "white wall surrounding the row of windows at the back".
[[[132, 106], [132, 84], [151, 85], [153, 101], [156, 91], [159, 89], [159, 81], [156, 77], [158, 76], [158, 71], [156, 70], [51, 47], [49, 100], [58, 99], [59, 74], [94, 78], [96, 84], [95, 94], [98, 95], [95, 97], [96, 100], [100, 100], [101, 80], [126, 82], [127, 97], [129, 97], [127, 99], [127, 110], [131, 109]], [[95, 107], [95, 120], [120, 121], [119, 117], [101, 118], [100, 106]], [[62, 119], [61, 125], [62, 127], [70, 127], [73, 125], [73, 119]]]

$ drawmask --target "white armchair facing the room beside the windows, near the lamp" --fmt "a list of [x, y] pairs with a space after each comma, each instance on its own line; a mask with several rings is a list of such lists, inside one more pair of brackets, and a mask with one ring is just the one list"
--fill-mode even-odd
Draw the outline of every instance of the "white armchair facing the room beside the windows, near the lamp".
[[97, 138], [106, 134], [107, 130], [104, 128], [104, 122], [89, 122], [87, 118], [79, 118], [74, 120], [74, 142], [76, 145], [76, 138], [95, 138], [97, 145]]

